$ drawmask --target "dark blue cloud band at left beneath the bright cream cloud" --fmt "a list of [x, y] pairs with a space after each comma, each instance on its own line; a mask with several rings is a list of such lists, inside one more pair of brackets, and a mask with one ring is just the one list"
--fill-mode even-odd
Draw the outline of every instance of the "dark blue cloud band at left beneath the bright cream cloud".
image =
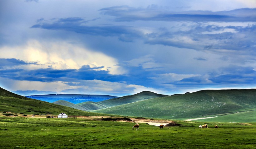
[[41, 81], [41, 82], [52, 82], [52, 81], [71, 81], [72, 79], [77, 80], [104, 80], [104, 81], [124, 81], [126, 78], [123, 75], [111, 75], [108, 71], [97, 70], [103, 67], [90, 68], [84, 65], [80, 69], [65, 69], [57, 70], [53, 68], [46, 69], [5, 69], [0, 70], [0, 77], [5, 77], [13, 80], [20, 81]]

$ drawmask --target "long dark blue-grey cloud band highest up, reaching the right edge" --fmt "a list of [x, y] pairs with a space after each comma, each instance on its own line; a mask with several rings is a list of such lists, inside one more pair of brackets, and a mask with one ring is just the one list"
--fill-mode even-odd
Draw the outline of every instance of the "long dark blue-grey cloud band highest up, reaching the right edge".
[[193, 21], [193, 22], [249, 22], [256, 21], [255, 8], [242, 8], [232, 11], [185, 11], [171, 12], [162, 7], [135, 8], [124, 6], [115, 6], [102, 8], [105, 15], [115, 16], [116, 21]]

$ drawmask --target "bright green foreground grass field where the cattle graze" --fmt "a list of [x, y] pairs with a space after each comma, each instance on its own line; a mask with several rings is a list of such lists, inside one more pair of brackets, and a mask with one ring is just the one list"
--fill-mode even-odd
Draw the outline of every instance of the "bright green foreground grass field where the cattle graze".
[[[183, 122], [159, 129], [88, 119], [1, 118], [0, 148], [256, 148], [256, 123]], [[219, 128], [213, 128], [217, 124]]]

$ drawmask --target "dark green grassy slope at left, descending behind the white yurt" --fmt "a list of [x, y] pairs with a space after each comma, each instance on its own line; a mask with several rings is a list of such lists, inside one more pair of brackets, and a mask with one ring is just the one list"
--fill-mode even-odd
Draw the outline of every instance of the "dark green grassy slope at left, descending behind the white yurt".
[[[70, 107], [30, 99], [0, 88], [0, 111], [23, 114], [55, 114], [102, 116], [102, 114], [85, 112]], [[108, 114], [109, 115], [109, 114]]]

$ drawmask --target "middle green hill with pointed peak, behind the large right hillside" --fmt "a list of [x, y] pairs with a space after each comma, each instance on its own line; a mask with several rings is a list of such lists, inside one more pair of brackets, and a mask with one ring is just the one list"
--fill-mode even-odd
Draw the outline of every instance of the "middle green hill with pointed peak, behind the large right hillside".
[[113, 98], [109, 100], [100, 101], [98, 103], [100, 103], [101, 105], [105, 105], [106, 107], [113, 107], [117, 105], [128, 104], [128, 103], [146, 100], [150, 98], [165, 97], [165, 96], [168, 96], [168, 95], [156, 94], [150, 91], [143, 91], [135, 95]]

